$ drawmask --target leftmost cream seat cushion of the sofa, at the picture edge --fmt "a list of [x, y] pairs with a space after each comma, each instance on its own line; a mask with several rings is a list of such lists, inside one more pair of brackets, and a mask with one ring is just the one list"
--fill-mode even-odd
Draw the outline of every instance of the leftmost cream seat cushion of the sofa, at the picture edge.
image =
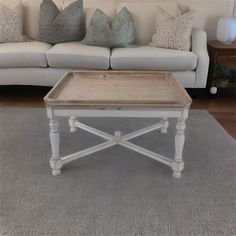
[[47, 67], [46, 52], [52, 46], [42, 42], [0, 44], [0, 67]]

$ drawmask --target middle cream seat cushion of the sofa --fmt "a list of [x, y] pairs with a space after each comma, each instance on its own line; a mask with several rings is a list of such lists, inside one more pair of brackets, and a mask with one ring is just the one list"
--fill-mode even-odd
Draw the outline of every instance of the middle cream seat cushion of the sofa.
[[56, 44], [47, 52], [50, 67], [108, 69], [110, 49], [87, 46], [80, 42]]

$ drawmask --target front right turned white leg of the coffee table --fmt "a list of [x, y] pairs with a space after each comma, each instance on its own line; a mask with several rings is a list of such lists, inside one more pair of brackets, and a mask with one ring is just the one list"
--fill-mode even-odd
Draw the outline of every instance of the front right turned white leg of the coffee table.
[[183, 117], [178, 118], [176, 125], [177, 133], [175, 135], [175, 157], [172, 162], [173, 176], [175, 178], [181, 177], [181, 171], [184, 169], [184, 162], [182, 159], [182, 152], [184, 147], [184, 130], [185, 130], [185, 119]]

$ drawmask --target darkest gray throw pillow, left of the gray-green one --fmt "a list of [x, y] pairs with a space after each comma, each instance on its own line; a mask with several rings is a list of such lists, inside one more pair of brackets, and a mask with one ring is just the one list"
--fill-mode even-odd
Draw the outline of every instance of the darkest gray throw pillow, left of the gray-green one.
[[84, 37], [83, 0], [71, 3], [62, 11], [52, 0], [43, 0], [39, 16], [41, 41], [56, 44]]

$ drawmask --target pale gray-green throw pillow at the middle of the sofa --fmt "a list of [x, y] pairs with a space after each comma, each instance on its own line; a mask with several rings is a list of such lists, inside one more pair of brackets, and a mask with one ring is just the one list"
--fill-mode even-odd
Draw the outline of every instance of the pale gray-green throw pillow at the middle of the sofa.
[[82, 43], [108, 48], [137, 46], [134, 22], [127, 8], [122, 8], [114, 19], [96, 9]]

